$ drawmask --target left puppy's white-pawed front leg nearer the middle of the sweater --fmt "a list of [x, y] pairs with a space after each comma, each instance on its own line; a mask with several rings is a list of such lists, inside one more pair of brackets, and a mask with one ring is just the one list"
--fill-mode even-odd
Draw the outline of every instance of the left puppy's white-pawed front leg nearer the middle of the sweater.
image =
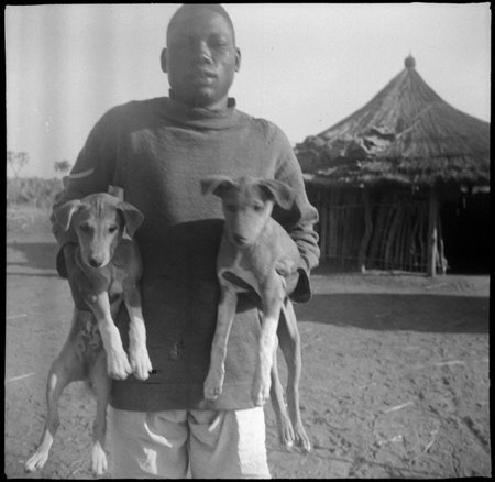
[[135, 285], [124, 285], [124, 303], [128, 308], [129, 325], [129, 361], [134, 375], [146, 380], [153, 370], [146, 348], [146, 327], [141, 308], [141, 295]]

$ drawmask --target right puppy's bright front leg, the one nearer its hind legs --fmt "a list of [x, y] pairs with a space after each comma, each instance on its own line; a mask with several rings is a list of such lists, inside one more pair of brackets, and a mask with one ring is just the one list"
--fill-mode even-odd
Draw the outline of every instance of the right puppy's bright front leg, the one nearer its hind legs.
[[270, 398], [273, 353], [276, 344], [278, 317], [284, 299], [279, 276], [275, 275], [268, 280], [262, 292], [263, 314], [261, 337], [257, 350], [256, 372], [251, 393], [254, 405], [256, 406], [263, 406]]

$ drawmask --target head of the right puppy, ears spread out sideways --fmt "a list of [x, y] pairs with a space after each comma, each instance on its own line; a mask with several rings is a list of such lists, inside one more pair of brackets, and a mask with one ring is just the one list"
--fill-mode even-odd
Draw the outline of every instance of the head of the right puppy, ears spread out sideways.
[[226, 234], [240, 248], [257, 240], [275, 205], [288, 210], [295, 199], [294, 189], [275, 179], [218, 175], [201, 179], [201, 187], [222, 200]]

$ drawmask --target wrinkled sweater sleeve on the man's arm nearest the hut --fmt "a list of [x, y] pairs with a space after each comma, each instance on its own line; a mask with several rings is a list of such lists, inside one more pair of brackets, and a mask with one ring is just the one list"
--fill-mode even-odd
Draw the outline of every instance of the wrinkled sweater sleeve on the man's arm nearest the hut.
[[294, 302], [307, 302], [311, 296], [310, 271], [318, 266], [320, 249], [314, 227], [318, 222], [318, 211], [309, 204], [302, 171], [286, 135], [275, 128], [273, 146], [277, 152], [275, 178], [289, 185], [296, 191], [290, 211], [274, 209], [274, 218], [287, 230], [300, 253], [299, 282], [290, 295]]

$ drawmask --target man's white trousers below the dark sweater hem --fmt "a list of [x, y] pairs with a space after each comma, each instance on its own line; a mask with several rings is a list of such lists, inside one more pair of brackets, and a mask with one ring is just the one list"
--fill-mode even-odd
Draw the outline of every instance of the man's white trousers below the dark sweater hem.
[[116, 479], [271, 479], [262, 407], [109, 412]]

